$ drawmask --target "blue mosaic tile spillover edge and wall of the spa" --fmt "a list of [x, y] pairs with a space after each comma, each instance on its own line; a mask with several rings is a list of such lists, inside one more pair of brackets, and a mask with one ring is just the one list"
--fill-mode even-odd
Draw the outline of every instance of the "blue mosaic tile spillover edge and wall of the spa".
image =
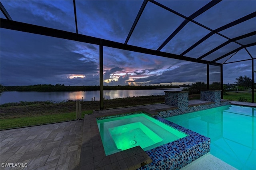
[[210, 152], [210, 138], [169, 122], [160, 116], [156, 119], [176, 128], [180, 132], [186, 133], [188, 136], [147, 150], [146, 153], [153, 162], [138, 168], [138, 170], [178, 170]]

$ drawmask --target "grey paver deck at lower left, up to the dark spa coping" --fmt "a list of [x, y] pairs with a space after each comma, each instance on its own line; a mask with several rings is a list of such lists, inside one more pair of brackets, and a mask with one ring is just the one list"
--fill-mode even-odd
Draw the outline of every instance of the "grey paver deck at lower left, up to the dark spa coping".
[[[83, 123], [83, 120], [75, 120], [0, 131], [0, 169], [78, 169]], [[2, 167], [2, 163], [10, 164]], [[16, 163], [26, 167], [13, 167]]]

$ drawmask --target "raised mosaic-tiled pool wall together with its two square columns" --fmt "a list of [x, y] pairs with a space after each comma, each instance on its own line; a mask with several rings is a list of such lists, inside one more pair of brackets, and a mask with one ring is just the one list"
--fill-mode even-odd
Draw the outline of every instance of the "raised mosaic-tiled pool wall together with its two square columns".
[[[221, 90], [201, 90], [201, 100], [209, 101], [213, 103], [198, 104], [197, 106], [188, 106], [188, 92], [175, 92], [175, 91], [165, 92], [165, 98], [166, 98], [165, 104], [174, 106], [174, 107], [177, 107], [177, 106], [179, 107], [173, 110], [160, 111], [158, 112], [158, 116], [162, 118], [167, 118], [170, 116], [176, 116], [180, 114], [230, 105], [230, 102], [228, 100], [221, 101], [220, 93], [221, 93]], [[187, 96], [185, 94], [187, 94]], [[174, 100], [174, 98], [177, 98], [177, 100]], [[183, 104], [177, 104], [175, 102], [183, 103]]]

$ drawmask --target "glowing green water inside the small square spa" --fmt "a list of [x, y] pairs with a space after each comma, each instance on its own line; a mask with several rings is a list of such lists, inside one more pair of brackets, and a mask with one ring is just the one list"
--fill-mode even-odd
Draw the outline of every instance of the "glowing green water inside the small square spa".
[[97, 120], [106, 155], [140, 146], [150, 150], [187, 136], [146, 114]]

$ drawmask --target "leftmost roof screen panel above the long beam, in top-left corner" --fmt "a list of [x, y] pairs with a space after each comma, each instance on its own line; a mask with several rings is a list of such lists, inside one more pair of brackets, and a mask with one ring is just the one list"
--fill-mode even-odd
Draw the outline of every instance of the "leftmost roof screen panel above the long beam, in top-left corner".
[[76, 32], [73, 2], [68, 0], [3, 0], [12, 20]]

